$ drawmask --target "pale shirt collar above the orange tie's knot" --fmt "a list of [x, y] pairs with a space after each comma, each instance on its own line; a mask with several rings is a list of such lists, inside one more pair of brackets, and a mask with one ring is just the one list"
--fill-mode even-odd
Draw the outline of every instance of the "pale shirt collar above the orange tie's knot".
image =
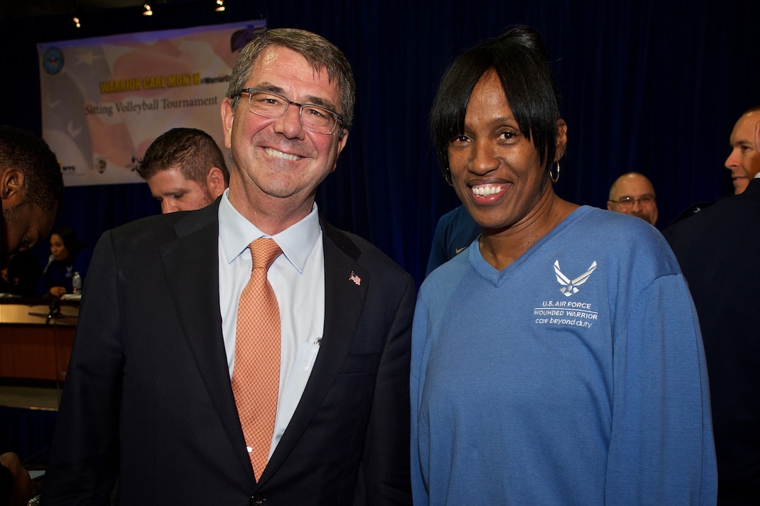
[[[268, 237], [233, 207], [229, 193], [230, 189], [227, 188], [219, 204], [219, 240], [227, 264], [238, 258], [252, 241]], [[305, 218], [271, 238], [283, 250], [290, 264], [302, 273], [306, 259], [309, 258], [320, 234], [319, 213], [315, 202], [312, 204], [312, 212]]]

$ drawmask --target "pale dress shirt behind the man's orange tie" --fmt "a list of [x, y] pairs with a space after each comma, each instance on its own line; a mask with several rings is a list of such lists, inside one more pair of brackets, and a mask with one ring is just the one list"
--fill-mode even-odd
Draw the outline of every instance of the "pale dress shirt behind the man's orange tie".
[[[248, 245], [270, 237], [230, 203], [229, 189], [219, 204], [219, 302], [230, 379], [235, 367], [235, 334], [240, 293], [251, 278]], [[280, 391], [269, 457], [301, 399], [325, 328], [325, 254], [317, 204], [309, 216], [271, 236], [283, 250], [267, 279], [280, 306]], [[189, 273], [188, 273], [189, 274]]]

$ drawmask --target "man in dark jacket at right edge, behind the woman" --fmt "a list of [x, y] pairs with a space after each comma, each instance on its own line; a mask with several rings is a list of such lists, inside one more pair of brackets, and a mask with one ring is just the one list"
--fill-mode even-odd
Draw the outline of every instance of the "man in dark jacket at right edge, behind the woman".
[[[757, 109], [760, 111], [760, 109]], [[732, 134], [760, 163], [760, 115]], [[760, 504], [760, 174], [663, 231], [689, 282], [710, 377], [717, 504]]]

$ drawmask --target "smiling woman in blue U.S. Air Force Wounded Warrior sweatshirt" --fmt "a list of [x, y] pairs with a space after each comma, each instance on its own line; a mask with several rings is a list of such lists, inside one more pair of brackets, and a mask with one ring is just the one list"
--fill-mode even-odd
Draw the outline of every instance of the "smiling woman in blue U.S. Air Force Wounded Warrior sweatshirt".
[[415, 504], [715, 504], [689, 290], [648, 223], [554, 193], [568, 127], [540, 34], [456, 59], [431, 125], [482, 233], [417, 299]]

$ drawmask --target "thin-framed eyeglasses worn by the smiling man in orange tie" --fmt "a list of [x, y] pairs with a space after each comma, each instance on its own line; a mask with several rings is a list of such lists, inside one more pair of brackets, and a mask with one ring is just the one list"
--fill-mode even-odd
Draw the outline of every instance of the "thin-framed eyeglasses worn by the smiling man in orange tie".
[[248, 93], [248, 110], [264, 118], [281, 118], [291, 103], [298, 106], [301, 125], [318, 134], [331, 134], [335, 130], [335, 125], [343, 122], [343, 115], [335, 111], [315, 106], [313, 103], [293, 102], [280, 93], [261, 90], [261, 88], [245, 88], [240, 90], [240, 93]]

